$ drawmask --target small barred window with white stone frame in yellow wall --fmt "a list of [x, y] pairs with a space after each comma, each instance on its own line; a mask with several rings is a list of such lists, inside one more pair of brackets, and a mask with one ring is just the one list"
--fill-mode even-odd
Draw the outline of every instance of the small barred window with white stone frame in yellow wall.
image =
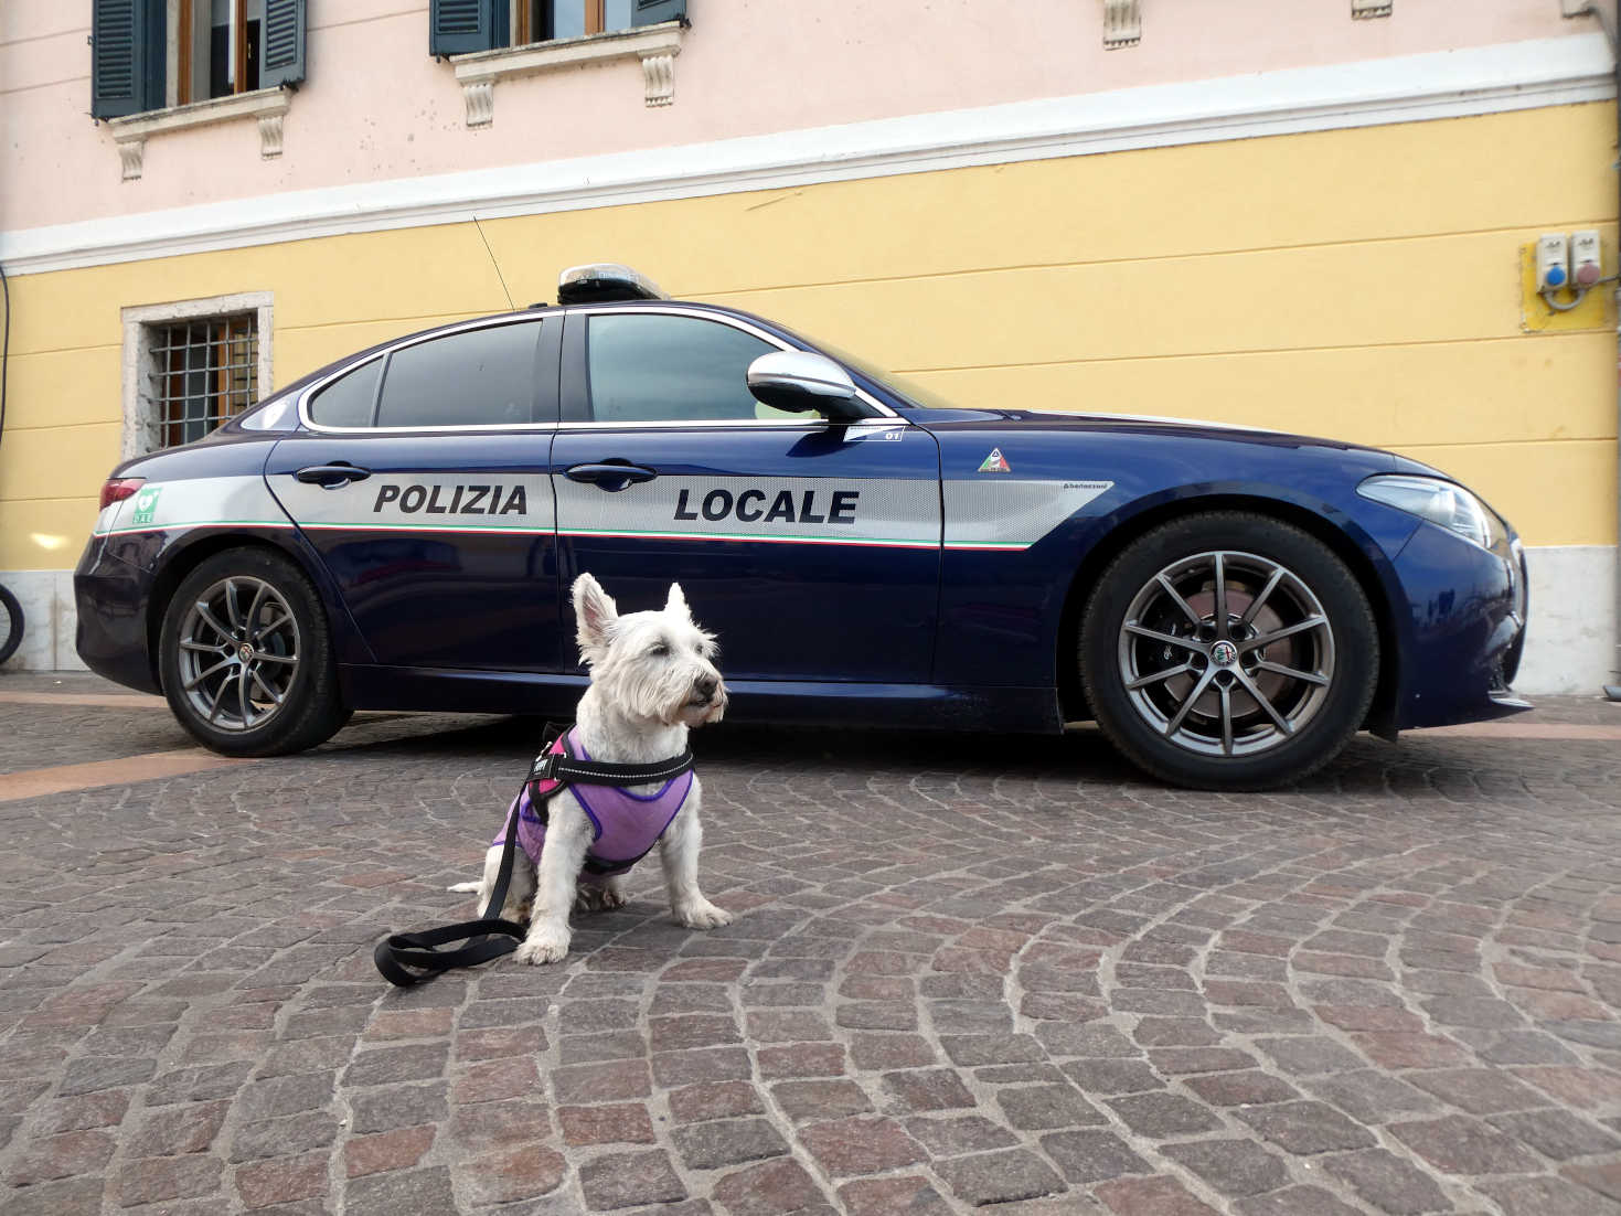
[[123, 454], [193, 443], [271, 392], [271, 293], [123, 310]]

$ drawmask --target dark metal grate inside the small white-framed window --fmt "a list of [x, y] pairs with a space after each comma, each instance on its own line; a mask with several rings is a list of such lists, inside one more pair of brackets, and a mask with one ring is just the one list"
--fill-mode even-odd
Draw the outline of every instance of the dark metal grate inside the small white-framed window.
[[253, 313], [152, 326], [148, 423], [154, 447], [201, 439], [259, 399]]

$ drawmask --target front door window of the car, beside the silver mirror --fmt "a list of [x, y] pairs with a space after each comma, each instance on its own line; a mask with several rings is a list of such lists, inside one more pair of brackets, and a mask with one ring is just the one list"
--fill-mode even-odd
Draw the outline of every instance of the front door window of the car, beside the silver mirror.
[[720, 321], [597, 313], [585, 362], [597, 422], [786, 418], [749, 392], [749, 363], [778, 347]]

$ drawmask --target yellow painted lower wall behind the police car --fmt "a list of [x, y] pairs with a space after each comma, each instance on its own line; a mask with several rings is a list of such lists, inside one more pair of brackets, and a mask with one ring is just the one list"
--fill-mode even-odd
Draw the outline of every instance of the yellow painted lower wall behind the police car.
[[[613, 259], [963, 404], [1300, 430], [1616, 542], [1616, 339], [1520, 329], [1520, 246], [1598, 227], [1610, 104], [486, 221], [522, 305]], [[0, 569], [62, 567], [117, 459], [118, 310], [271, 290], [276, 383], [506, 306], [470, 224], [19, 277]], [[55, 538], [55, 542], [52, 542]], [[55, 548], [50, 545], [55, 543]], [[66, 554], [66, 556], [63, 556]]]

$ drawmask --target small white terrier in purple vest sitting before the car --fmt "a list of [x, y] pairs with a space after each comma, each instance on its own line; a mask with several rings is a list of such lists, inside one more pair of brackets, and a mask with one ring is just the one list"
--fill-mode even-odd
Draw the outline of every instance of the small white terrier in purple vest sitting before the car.
[[[574, 580], [574, 614], [580, 658], [592, 676], [569, 733], [579, 759], [652, 764], [686, 752], [689, 728], [721, 720], [726, 684], [715, 670], [715, 639], [694, 624], [679, 584], [671, 584], [661, 611], [619, 616], [597, 579], [582, 574]], [[566, 785], [545, 803], [543, 819], [520, 817], [524, 848], [514, 850], [501, 910], [506, 919], [522, 921], [524, 905], [532, 905], [517, 957], [556, 963], [567, 955], [569, 910], [575, 903], [622, 906], [627, 863], [640, 859], [655, 838], [676, 921], [689, 929], [729, 924], [731, 913], [699, 890], [702, 801], [697, 773], [684, 772], [671, 781], [626, 788]], [[673, 817], [666, 820], [666, 814]], [[480, 882], [451, 888], [477, 890], [480, 914], [488, 914], [504, 838], [503, 827], [485, 854]]]

